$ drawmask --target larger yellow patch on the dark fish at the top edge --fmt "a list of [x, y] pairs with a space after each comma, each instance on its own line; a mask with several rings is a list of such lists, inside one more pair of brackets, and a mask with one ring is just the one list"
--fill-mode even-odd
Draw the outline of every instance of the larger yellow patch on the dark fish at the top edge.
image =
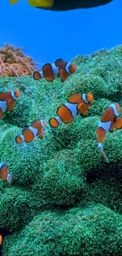
[[[13, 0], [11, 0], [13, 1]], [[51, 7], [54, 6], [54, 0], [28, 0], [30, 6], [33, 7]]]

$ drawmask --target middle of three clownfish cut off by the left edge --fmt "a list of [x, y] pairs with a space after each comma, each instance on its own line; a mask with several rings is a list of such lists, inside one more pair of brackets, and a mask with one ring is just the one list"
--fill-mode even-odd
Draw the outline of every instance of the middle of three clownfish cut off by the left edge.
[[12, 174], [9, 173], [8, 165], [0, 163], [0, 179], [6, 180], [9, 183], [12, 181]]

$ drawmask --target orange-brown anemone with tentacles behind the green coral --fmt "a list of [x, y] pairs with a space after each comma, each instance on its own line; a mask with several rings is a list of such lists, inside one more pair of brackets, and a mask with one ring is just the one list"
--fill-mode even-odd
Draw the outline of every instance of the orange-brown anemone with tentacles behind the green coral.
[[0, 76], [28, 76], [37, 70], [37, 64], [25, 56], [21, 48], [5, 44], [0, 49]]

